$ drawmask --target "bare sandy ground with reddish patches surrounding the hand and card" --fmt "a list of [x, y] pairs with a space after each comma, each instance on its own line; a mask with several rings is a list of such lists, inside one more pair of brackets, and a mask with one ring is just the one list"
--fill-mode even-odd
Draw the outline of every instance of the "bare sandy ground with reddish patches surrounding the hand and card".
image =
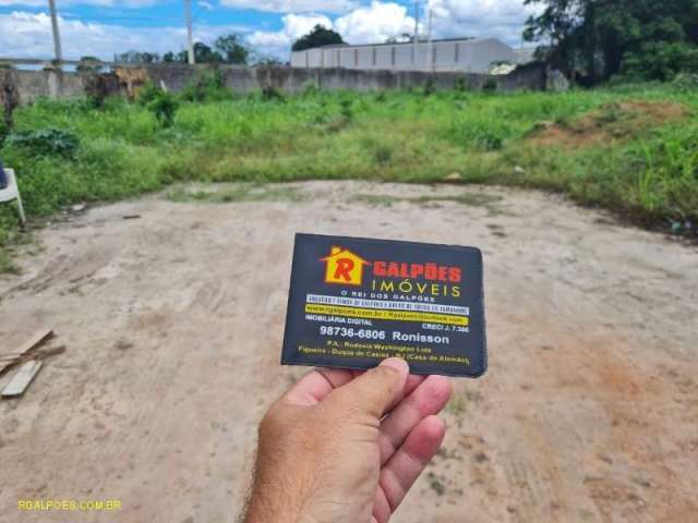
[[[490, 372], [457, 381], [395, 522], [698, 521], [698, 250], [541, 193], [294, 186], [306, 199], [158, 195], [38, 234], [0, 279], [2, 351], [41, 326], [68, 351], [0, 402], [2, 522], [232, 521], [255, 424], [304, 372], [278, 365], [297, 231], [485, 253]], [[19, 512], [25, 498], [123, 509]]]

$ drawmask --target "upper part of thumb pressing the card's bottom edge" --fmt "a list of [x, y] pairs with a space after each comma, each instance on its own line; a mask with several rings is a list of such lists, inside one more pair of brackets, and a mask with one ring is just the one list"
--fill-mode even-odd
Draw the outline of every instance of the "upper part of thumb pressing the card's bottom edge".
[[390, 357], [341, 387], [337, 392], [347, 400], [358, 403], [361, 412], [380, 418], [402, 396], [409, 372], [409, 365], [405, 360]]

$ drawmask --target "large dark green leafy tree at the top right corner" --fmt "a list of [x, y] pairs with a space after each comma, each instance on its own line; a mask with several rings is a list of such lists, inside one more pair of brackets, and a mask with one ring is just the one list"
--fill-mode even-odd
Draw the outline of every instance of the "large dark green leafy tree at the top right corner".
[[616, 74], [669, 80], [698, 72], [698, 0], [526, 0], [542, 3], [527, 22], [539, 56], [592, 82]]

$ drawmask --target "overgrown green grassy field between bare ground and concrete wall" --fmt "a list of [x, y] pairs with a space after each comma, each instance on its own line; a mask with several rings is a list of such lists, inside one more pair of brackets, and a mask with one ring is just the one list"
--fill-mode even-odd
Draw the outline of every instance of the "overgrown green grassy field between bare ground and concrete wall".
[[[103, 109], [46, 100], [15, 112], [20, 137], [46, 129], [70, 134], [10, 138], [0, 149], [34, 218], [176, 181], [366, 179], [538, 187], [647, 227], [695, 233], [698, 222], [698, 89], [676, 84], [510, 95], [208, 93], [179, 100], [169, 126], [122, 99]], [[2, 206], [0, 271], [11, 267], [15, 221]]]

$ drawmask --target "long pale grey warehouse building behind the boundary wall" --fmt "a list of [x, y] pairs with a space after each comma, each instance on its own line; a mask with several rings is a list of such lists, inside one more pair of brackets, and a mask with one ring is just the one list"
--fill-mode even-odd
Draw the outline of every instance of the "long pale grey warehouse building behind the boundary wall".
[[449, 39], [363, 46], [325, 46], [291, 53], [299, 69], [380, 69], [489, 73], [502, 62], [519, 63], [517, 51], [496, 38]]

